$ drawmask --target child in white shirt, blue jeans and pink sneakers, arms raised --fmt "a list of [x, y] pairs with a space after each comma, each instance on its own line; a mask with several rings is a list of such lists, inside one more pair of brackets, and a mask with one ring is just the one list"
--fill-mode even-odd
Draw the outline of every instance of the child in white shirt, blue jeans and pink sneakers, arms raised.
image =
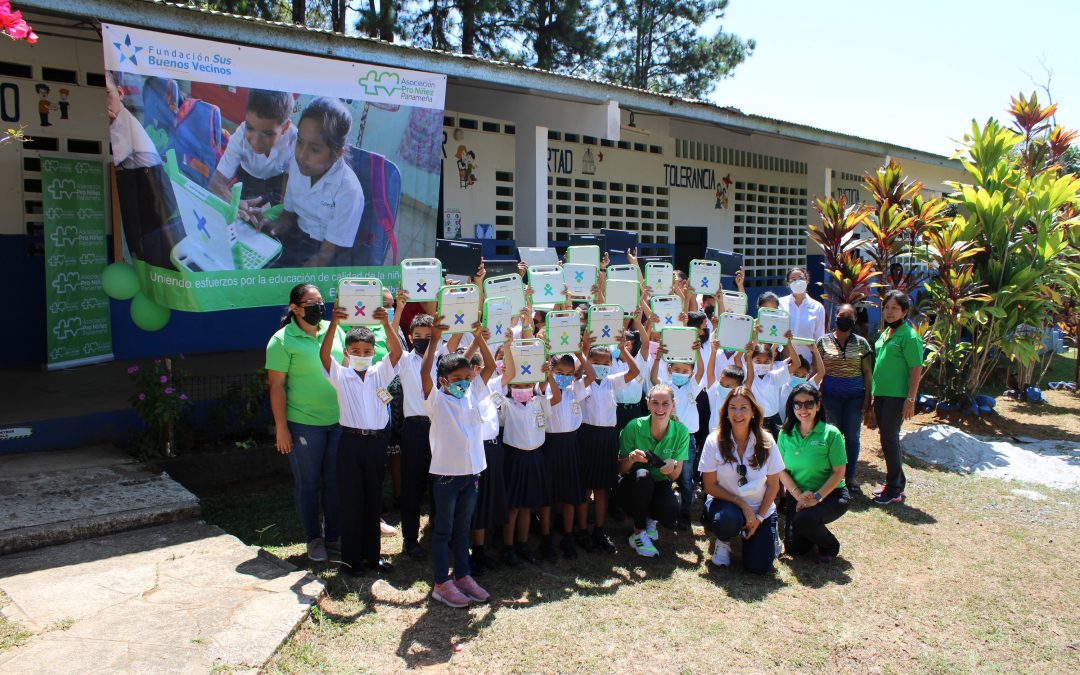
[[[431, 339], [438, 343], [448, 329], [444, 318], [435, 320]], [[431, 377], [435, 350], [429, 346], [420, 364], [424, 408], [431, 418], [432, 497], [435, 502], [434, 537], [431, 558], [435, 585], [433, 599], [449, 607], [468, 607], [489, 597], [472, 578], [469, 568], [469, 529], [476, 507], [480, 474], [486, 467], [481, 402], [490, 395], [487, 388], [495, 373], [495, 359], [487, 341], [476, 330], [484, 366], [472, 381], [469, 360], [461, 354], [446, 354], [438, 360], [437, 386]], [[454, 577], [449, 553], [454, 552]]]

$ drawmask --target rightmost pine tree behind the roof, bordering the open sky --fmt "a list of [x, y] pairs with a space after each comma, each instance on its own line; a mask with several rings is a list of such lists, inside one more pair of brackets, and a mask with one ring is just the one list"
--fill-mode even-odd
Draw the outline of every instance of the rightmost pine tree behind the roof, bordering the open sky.
[[608, 6], [616, 38], [599, 71], [619, 84], [704, 98], [755, 46], [719, 27], [702, 35], [701, 26], [724, 17], [728, 0], [615, 0]]

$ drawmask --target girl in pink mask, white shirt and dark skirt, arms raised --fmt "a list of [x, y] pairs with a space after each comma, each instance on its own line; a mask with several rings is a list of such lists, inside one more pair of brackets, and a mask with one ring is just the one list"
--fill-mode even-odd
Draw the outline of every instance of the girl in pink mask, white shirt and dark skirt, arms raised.
[[[507, 373], [515, 373], [514, 357], [505, 350]], [[543, 372], [548, 376], [551, 400], [537, 393], [537, 386], [511, 383], [507, 401], [507, 419], [502, 430], [505, 448], [507, 505], [510, 510], [507, 525], [502, 528], [502, 561], [516, 567], [522, 561], [536, 563], [529, 551], [529, 525], [532, 512], [545, 507], [551, 488], [548, 484], [548, 469], [544, 464], [544, 431], [551, 419], [551, 405], [563, 400], [555, 387], [551, 367], [545, 363]]]

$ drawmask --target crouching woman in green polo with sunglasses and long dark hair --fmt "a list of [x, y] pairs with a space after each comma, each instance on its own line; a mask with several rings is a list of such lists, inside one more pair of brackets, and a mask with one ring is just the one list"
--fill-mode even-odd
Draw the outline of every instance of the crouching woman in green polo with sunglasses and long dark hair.
[[825, 526], [851, 505], [843, 482], [848, 468], [843, 434], [825, 423], [821, 391], [813, 384], [793, 389], [785, 409], [784, 429], [777, 440], [785, 467], [780, 481], [787, 488], [781, 502], [784, 551], [804, 555], [818, 546], [818, 562], [832, 563], [840, 542]]

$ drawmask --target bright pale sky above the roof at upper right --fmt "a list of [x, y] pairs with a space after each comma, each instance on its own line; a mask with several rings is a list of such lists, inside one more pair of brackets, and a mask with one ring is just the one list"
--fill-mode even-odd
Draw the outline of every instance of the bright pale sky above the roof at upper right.
[[730, 0], [723, 25], [757, 41], [712, 96], [743, 112], [951, 154], [1045, 82], [1041, 59], [1080, 126], [1080, 0]]

